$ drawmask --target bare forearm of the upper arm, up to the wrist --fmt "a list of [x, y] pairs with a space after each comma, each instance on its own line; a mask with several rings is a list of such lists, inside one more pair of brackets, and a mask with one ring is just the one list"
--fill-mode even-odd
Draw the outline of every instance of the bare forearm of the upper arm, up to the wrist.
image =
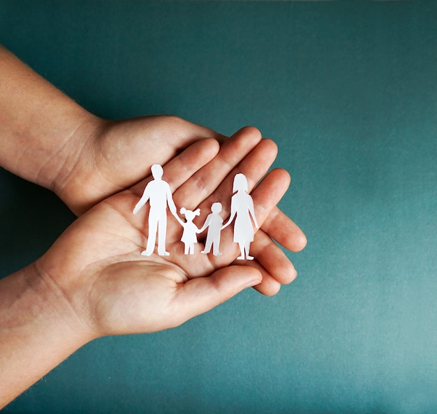
[[102, 120], [0, 46], [0, 165], [60, 191]]

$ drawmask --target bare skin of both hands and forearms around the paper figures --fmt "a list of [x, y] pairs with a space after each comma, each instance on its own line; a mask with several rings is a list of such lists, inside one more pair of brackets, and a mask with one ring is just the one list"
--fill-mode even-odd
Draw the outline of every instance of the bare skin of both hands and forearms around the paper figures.
[[[0, 165], [52, 189], [80, 216], [41, 258], [0, 280], [0, 407], [93, 339], [175, 327], [244, 288], [274, 295], [295, 279], [272, 238], [291, 251], [306, 239], [275, 207], [288, 173], [262, 179], [277, 149], [258, 130], [227, 139], [177, 117], [106, 121], [3, 48], [0, 73]], [[184, 255], [173, 218], [170, 256], [141, 256], [148, 210], [132, 211], [154, 163], [163, 165], [175, 204], [201, 212], [228, 200], [243, 172], [261, 226], [255, 260], [235, 261], [230, 229], [221, 235], [222, 256]], [[222, 214], [230, 214], [225, 203]]]

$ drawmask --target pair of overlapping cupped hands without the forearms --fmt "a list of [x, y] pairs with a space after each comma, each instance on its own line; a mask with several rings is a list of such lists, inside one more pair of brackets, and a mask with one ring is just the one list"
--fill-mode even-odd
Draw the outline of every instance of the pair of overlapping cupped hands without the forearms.
[[[272, 239], [290, 251], [303, 249], [306, 239], [276, 207], [288, 188], [288, 173], [272, 170], [265, 176], [276, 151], [274, 142], [251, 127], [226, 139], [176, 117], [100, 120], [72, 154], [73, 170], [53, 185], [81, 215], [33, 265], [43, 285], [56, 293], [54, 306], [93, 339], [175, 327], [249, 286], [277, 293], [296, 272]], [[251, 246], [255, 260], [237, 264], [230, 228], [221, 235], [222, 256], [185, 255], [173, 219], [167, 229], [170, 256], [140, 256], [148, 208], [132, 211], [154, 163], [163, 165], [175, 204], [201, 212], [230, 199], [235, 174], [244, 173], [260, 225]], [[223, 203], [222, 216], [229, 216], [227, 208]]]

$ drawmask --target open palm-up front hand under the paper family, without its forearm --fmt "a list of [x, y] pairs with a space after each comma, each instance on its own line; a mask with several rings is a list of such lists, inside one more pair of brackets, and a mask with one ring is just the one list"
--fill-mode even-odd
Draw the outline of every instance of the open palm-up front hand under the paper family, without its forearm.
[[[175, 204], [207, 212], [220, 200], [222, 214], [229, 214], [235, 173], [243, 172], [253, 188], [276, 157], [276, 145], [259, 135], [254, 128], [244, 128], [221, 147], [216, 140], [200, 140], [166, 163], [163, 179], [172, 188]], [[248, 147], [253, 149], [241, 160]], [[233, 264], [238, 248], [231, 228], [222, 232], [222, 256], [200, 254], [201, 244], [196, 246], [198, 254], [184, 255], [182, 230], [170, 214], [170, 256], [140, 256], [147, 242], [148, 205], [136, 216], [132, 209], [149, 179], [81, 216], [35, 263], [41, 278], [59, 288], [60, 302], [65, 298], [68, 304], [65, 309], [72, 309], [92, 336], [174, 327], [248, 286], [272, 294], [280, 283], [294, 279], [294, 267], [262, 230], [251, 247], [256, 260], [244, 265]], [[251, 193], [258, 221], [267, 230], [272, 226], [269, 214], [288, 184], [287, 172], [273, 170]], [[198, 220], [205, 221], [205, 216]], [[282, 221], [283, 232], [290, 230], [288, 245], [293, 245], [293, 235], [304, 237], [294, 223]]]

